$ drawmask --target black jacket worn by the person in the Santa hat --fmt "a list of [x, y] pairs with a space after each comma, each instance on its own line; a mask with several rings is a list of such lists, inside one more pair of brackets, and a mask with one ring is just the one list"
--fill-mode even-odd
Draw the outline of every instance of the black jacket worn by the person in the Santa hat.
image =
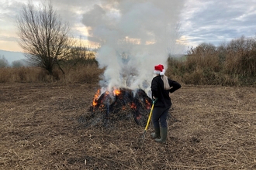
[[171, 87], [170, 90], [164, 90], [164, 82], [161, 79], [161, 76], [155, 76], [151, 82], [151, 91], [152, 97], [157, 98], [157, 102], [154, 104], [154, 107], [171, 107], [171, 97], [169, 93], [175, 92], [182, 86], [168, 78], [169, 85]]

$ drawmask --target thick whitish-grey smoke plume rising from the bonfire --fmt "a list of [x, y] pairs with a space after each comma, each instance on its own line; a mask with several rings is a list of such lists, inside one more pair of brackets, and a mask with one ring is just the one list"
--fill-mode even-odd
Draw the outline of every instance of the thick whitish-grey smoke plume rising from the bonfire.
[[[102, 0], [83, 15], [89, 40], [100, 43], [96, 56], [106, 71], [102, 87], [150, 89], [154, 65], [167, 69], [168, 50], [178, 39], [183, 0]], [[172, 47], [171, 47], [172, 46]]]

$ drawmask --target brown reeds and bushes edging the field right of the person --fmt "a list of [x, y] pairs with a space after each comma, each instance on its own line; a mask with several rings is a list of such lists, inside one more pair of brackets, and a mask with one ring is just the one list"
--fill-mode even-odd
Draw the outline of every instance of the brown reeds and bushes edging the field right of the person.
[[220, 46], [201, 43], [183, 59], [168, 59], [169, 74], [185, 83], [256, 85], [256, 36], [241, 36]]

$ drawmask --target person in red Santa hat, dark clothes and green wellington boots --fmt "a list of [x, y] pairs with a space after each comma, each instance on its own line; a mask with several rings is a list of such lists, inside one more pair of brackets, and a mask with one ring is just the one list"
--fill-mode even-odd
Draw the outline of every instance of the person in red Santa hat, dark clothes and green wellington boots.
[[[175, 80], [171, 80], [167, 76], [164, 76], [165, 70], [164, 66], [161, 64], [154, 66], [154, 73], [156, 76], [154, 76], [151, 81], [151, 92], [153, 100], [156, 101], [154, 110], [152, 111], [154, 133], [152, 133], [151, 136], [155, 141], [165, 143], [168, 134], [168, 111], [171, 108], [171, 97], [169, 96], [169, 93], [175, 92], [175, 90], [178, 90], [182, 86]], [[167, 85], [164, 84], [164, 78], [167, 79], [166, 83], [168, 83], [168, 86], [170, 87], [168, 90], [164, 90], [164, 87]]]

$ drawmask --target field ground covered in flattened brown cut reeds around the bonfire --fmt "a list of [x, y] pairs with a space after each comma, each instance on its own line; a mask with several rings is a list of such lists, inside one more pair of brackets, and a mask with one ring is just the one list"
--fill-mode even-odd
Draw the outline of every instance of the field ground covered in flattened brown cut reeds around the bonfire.
[[256, 88], [185, 86], [171, 94], [168, 142], [133, 118], [85, 128], [93, 84], [1, 83], [1, 169], [256, 169]]

